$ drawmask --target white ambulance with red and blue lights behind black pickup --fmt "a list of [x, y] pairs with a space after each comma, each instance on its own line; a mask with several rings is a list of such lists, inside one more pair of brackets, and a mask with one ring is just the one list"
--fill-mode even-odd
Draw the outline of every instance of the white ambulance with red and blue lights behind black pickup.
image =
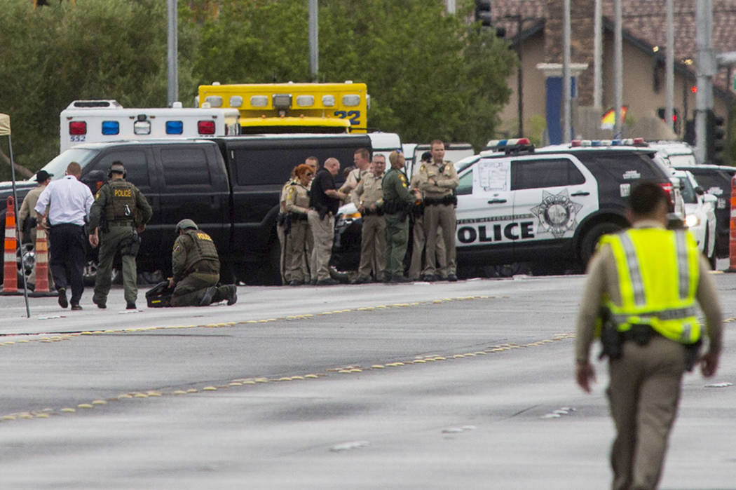
[[60, 152], [79, 143], [241, 134], [237, 109], [128, 108], [115, 100], [75, 100], [61, 111]]

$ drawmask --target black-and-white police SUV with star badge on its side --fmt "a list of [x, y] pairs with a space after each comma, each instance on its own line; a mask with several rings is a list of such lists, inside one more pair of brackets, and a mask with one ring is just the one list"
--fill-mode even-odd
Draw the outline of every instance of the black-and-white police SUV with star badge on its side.
[[534, 149], [494, 142], [457, 165], [459, 265], [576, 260], [626, 227], [626, 197], [643, 180], [670, 195], [668, 173], [642, 139], [573, 141]]

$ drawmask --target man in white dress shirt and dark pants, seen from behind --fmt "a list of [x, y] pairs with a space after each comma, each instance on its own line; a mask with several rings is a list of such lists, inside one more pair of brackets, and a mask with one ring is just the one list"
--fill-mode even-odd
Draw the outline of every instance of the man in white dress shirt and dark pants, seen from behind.
[[[79, 182], [82, 167], [71, 162], [66, 167], [63, 179], [52, 180], [38, 197], [35, 210], [46, 218], [51, 227], [51, 271], [59, 291], [59, 305], [66, 308], [71, 302], [72, 310], [81, 310], [79, 299], [84, 291], [86, 262], [85, 222], [94, 202], [92, 191]], [[46, 215], [46, 206], [49, 214]], [[71, 299], [67, 301], [66, 290], [71, 287]]]

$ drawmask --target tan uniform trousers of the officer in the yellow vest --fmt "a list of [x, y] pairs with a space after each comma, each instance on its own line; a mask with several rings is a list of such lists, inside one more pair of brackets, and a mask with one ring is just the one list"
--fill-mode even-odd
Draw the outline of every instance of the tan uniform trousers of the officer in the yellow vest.
[[611, 449], [614, 490], [655, 489], [677, 415], [685, 349], [654, 335], [643, 347], [623, 344], [609, 363], [606, 391], [617, 436]]

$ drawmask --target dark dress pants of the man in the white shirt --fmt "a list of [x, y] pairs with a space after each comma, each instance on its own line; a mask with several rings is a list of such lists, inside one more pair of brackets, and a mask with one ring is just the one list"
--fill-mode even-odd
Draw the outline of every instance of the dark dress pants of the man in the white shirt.
[[58, 288], [71, 288], [72, 305], [79, 305], [84, 291], [86, 262], [85, 227], [77, 224], [54, 224], [49, 232], [51, 241], [51, 271]]

